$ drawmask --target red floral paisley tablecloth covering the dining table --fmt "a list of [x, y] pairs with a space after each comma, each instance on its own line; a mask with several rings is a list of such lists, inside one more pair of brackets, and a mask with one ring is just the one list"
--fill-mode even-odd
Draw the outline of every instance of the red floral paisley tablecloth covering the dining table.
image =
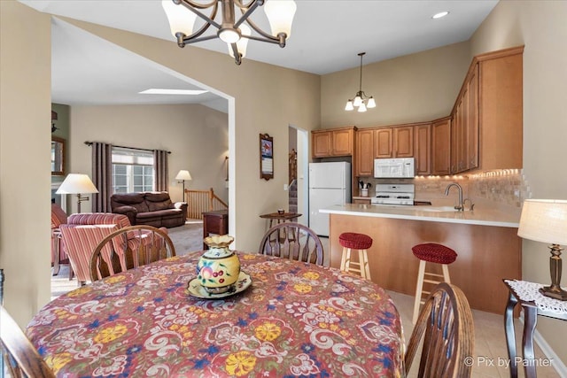
[[400, 376], [392, 300], [337, 269], [238, 252], [252, 286], [223, 299], [186, 289], [199, 253], [58, 297], [27, 336], [59, 377]]

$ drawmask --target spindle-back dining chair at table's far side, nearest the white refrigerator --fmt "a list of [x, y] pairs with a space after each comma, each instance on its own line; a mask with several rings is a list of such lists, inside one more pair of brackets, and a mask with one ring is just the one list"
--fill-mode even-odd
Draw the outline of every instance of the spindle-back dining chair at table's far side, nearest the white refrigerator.
[[311, 228], [295, 222], [280, 223], [268, 229], [258, 252], [322, 266], [321, 240]]

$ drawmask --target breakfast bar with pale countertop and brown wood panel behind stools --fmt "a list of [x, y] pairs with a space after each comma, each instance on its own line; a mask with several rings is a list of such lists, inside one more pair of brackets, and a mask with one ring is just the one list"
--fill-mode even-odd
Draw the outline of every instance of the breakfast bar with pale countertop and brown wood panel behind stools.
[[[449, 266], [451, 282], [462, 289], [472, 308], [501, 313], [508, 297], [502, 278], [522, 279], [519, 212], [368, 204], [320, 211], [330, 214], [330, 266], [340, 266], [338, 235], [369, 235], [373, 239], [368, 250], [370, 275], [384, 289], [415, 296], [419, 260], [411, 248], [420, 243], [439, 243], [457, 252]], [[429, 266], [438, 267], [440, 273], [440, 266]]]

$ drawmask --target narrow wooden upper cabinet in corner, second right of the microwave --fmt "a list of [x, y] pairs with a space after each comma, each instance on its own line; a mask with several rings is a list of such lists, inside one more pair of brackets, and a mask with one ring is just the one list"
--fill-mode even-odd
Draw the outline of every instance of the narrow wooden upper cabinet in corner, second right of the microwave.
[[431, 124], [431, 174], [451, 174], [451, 119]]

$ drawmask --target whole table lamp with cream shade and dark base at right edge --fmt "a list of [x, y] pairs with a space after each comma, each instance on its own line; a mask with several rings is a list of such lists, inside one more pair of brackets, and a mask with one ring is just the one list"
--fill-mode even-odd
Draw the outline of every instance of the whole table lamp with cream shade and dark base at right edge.
[[551, 286], [540, 289], [546, 297], [567, 300], [567, 291], [561, 289], [560, 245], [567, 245], [567, 201], [554, 199], [526, 199], [520, 217], [517, 235], [536, 242], [550, 243], [549, 271]]

